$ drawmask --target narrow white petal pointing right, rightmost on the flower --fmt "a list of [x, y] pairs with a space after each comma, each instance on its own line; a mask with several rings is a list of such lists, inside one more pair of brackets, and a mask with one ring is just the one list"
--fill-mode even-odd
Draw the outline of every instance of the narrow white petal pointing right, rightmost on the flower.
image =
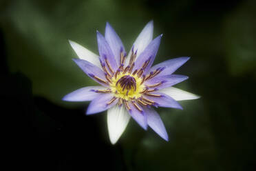
[[196, 94], [192, 94], [191, 92], [186, 92], [184, 90], [180, 90], [179, 88], [173, 87], [163, 88], [158, 92], [162, 92], [164, 94], [169, 95], [169, 97], [172, 97], [173, 99], [175, 99], [175, 101], [193, 100], [200, 98], [200, 96]]

